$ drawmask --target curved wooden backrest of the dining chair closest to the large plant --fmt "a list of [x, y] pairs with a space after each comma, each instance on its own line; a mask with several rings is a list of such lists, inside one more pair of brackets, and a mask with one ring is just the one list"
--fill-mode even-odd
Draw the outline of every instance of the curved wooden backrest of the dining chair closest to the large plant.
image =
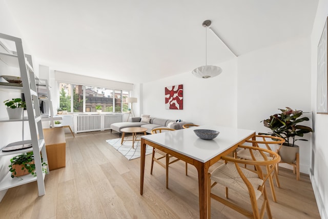
[[247, 140], [246, 142], [252, 143], [254, 147], [261, 147], [261, 145], [265, 145], [265, 147], [267, 147], [268, 150], [272, 150], [272, 147], [270, 146], [278, 145], [278, 148], [275, 150], [275, 152], [278, 153], [285, 140], [282, 137], [278, 137], [278, 136], [259, 134], [259, 135], [255, 135], [255, 140]]

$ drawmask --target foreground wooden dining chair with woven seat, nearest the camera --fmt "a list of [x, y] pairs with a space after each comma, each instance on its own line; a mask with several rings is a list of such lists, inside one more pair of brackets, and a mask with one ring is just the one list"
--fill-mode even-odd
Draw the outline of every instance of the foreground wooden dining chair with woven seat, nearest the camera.
[[[223, 156], [221, 159], [224, 161], [224, 164], [214, 169], [211, 173], [208, 173], [209, 218], [211, 217], [211, 198], [249, 218], [263, 218], [265, 209], [267, 210], [268, 218], [272, 218], [268, 195], [264, 184], [272, 172], [275, 171], [276, 165], [281, 158], [276, 152], [264, 148], [244, 145], [239, 146], [239, 148], [248, 150], [252, 160]], [[258, 159], [259, 157], [254, 155], [257, 153], [261, 155], [261, 159]], [[254, 165], [256, 170], [244, 168], [242, 165]], [[265, 167], [265, 169], [269, 170], [266, 176], [262, 173], [261, 167]], [[211, 181], [214, 181], [212, 185]], [[220, 197], [212, 192], [212, 190], [214, 190], [213, 187], [217, 184], [226, 187], [226, 198]], [[228, 189], [234, 190], [237, 196], [250, 198], [252, 211], [237, 205], [237, 202], [230, 202]], [[260, 196], [263, 196], [263, 203], [259, 211], [257, 202]]]

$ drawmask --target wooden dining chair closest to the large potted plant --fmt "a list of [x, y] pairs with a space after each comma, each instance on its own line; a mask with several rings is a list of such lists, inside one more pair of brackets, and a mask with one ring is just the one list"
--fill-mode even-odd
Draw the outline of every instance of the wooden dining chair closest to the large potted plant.
[[[282, 137], [271, 136], [271, 135], [255, 135], [255, 140], [247, 140], [247, 143], [251, 143], [254, 147], [266, 148], [268, 150], [274, 150], [276, 153], [279, 152], [282, 144], [285, 140]], [[255, 151], [254, 156], [257, 157], [258, 160], [263, 160], [260, 152]], [[244, 160], [252, 160], [252, 156], [249, 150], [239, 150], [235, 153], [235, 158], [242, 158]], [[270, 160], [272, 157], [268, 157]], [[267, 167], [268, 168], [268, 167]], [[267, 172], [269, 172], [267, 170]], [[278, 165], [276, 165], [276, 170], [273, 172], [274, 177], [276, 179], [277, 187], [280, 188], [279, 178], [278, 178]], [[272, 199], [274, 202], [277, 202], [274, 183], [272, 175], [269, 175], [269, 183], [272, 193]]]

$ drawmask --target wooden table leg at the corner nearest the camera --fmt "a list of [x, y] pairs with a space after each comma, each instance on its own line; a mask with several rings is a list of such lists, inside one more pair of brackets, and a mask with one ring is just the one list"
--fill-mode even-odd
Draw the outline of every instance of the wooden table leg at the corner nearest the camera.
[[194, 164], [198, 172], [199, 218], [208, 218], [208, 171], [210, 164], [197, 162]]

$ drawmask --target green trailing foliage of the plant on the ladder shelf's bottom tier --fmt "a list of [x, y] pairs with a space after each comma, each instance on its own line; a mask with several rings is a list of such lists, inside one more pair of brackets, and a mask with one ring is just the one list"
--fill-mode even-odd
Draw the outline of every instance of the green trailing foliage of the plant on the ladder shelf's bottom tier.
[[[33, 176], [36, 176], [35, 172], [35, 164], [32, 163], [34, 161], [33, 151], [25, 152], [19, 155], [16, 155], [10, 159], [10, 165], [8, 166], [11, 172], [11, 177], [15, 177], [16, 169], [13, 168], [13, 165], [22, 165], [22, 170], [26, 169]], [[43, 162], [43, 158], [41, 157], [42, 163], [42, 171], [47, 173], [47, 169], [44, 166], [47, 166], [47, 163]]]

